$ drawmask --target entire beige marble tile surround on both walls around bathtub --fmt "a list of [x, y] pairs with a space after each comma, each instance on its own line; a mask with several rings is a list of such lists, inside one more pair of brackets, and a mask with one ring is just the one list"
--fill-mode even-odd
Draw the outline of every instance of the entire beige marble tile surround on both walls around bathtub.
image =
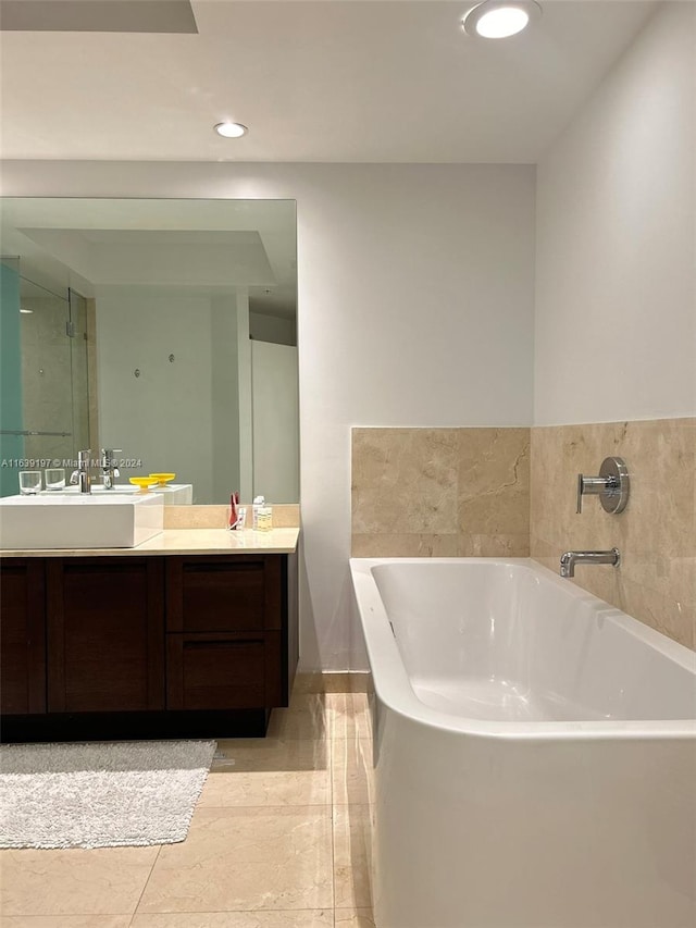
[[[579, 473], [623, 457], [619, 516]], [[696, 648], [696, 419], [529, 429], [353, 429], [353, 557], [525, 557], [618, 547], [622, 564], [573, 582]]]

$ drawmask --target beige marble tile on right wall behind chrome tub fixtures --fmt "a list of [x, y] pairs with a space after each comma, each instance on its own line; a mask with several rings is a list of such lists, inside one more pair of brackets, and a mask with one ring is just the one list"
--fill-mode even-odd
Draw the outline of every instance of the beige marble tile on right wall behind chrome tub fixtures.
[[[586, 496], [610, 455], [629, 468], [631, 496], [612, 516]], [[558, 569], [567, 549], [618, 547], [621, 566], [576, 568], [574, 582], [688, 647], [696, 647], [696, 419], [532, 429], [531, 554]]]

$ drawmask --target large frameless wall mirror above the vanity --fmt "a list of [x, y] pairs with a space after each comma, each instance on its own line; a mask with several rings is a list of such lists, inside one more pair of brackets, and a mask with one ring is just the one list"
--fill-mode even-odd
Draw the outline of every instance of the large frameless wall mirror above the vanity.
[[1, 495], [109, 448], [124, 490], [299, 500], [294, 200], [0, 206]]

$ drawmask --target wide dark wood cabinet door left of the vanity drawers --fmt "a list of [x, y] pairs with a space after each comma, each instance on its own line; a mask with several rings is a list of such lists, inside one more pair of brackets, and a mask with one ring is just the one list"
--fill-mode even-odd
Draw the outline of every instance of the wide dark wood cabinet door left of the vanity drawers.
[[47, 570], [49, 712], [163, 709], [162, 559], [53, 558]]

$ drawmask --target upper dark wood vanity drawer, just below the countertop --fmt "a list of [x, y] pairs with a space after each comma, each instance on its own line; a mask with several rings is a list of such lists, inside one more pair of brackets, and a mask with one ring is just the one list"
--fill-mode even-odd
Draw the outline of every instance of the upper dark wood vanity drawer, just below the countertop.
[[172, 557], [166, 578], [170, 632], [281, 628], [279, 556]]

